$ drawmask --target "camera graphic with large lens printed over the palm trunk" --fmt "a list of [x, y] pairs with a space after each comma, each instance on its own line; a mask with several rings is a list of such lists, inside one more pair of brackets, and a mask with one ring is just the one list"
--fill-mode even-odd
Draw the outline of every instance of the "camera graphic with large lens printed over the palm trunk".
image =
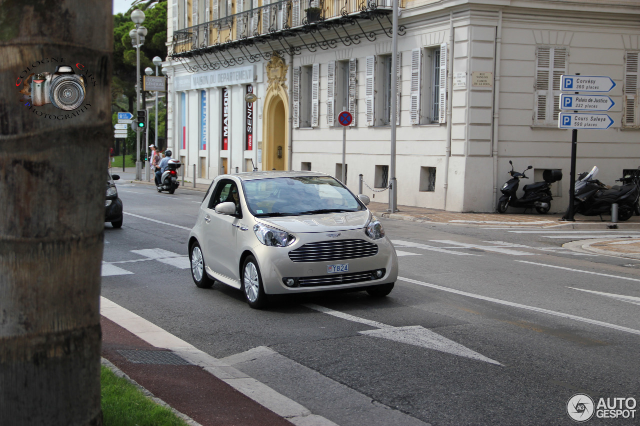
[[84, 102], [86, 77], [76, 74], [68, 65], [58, 65], [53, 74], [43, 72], [33, 75], [29, 91], [33, 106], [53, 104], [58, 109], [71, 111]]

